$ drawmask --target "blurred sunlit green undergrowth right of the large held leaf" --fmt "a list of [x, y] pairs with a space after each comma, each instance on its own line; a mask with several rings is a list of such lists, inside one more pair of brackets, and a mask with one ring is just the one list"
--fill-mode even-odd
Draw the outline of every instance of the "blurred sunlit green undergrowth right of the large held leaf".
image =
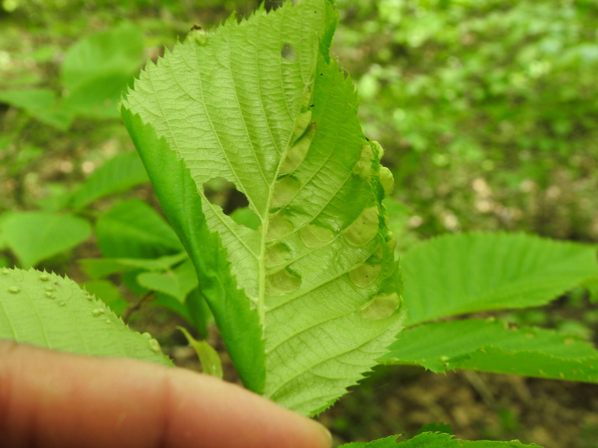
[[336, 45], [365, 128], [386, 148], [420, 231], [596, 237], [596, 2], [338, 7]]

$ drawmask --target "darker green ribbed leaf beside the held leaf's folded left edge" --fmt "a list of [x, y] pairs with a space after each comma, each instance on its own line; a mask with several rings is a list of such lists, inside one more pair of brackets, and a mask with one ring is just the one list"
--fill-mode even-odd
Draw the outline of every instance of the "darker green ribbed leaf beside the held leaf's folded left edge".
[[111, 258], [154, 258], [182, 250], [172, 228], [144, 201], [119, 202], [96, 222], [97, 244]]

